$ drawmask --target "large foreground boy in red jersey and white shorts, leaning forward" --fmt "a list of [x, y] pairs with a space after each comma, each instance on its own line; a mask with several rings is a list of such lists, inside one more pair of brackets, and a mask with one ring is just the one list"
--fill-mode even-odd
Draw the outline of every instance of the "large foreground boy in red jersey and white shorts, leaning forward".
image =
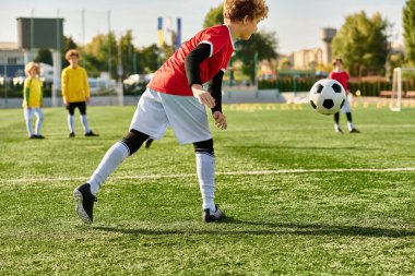
[[[234, 39], [249, 39], [266, 15], [264, 0], [225, 0], [225, 24], [195, 34], [155, 72], [130, 132], [108, 149], [90, 180], [73, 191], [76, 214], [84, 223], [92, 224], [96, 193], [107, 177], [149, 137], [162, 139], [169, 125], [180, 144], [194, 146], [203, 221], [225, 217], [214, 203], [215, 158], [205, 106], [212, 109], [216, 127], [225, 130], [222, 79], [235, 50]], [[202, 86], [206, 82], [208, 91]]]

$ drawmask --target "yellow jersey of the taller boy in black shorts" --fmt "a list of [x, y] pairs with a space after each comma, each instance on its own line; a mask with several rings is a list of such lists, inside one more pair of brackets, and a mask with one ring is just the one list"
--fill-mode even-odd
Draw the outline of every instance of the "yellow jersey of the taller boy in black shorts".
[[85, 101], [90, 97], [86, 70], [82, 67], [62, 70], [62, 97], [68, 103]]

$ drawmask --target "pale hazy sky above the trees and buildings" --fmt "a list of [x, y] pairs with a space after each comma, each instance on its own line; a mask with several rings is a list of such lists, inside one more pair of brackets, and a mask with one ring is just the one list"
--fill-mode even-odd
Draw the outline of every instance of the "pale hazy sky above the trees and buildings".
[[[211, 8], [222, 0], [0, 0], [0, 41], [17, 41], [17, 17], [64, 17], [63, 34], [78, 44], [91, 41], [108, 27], [117, 36], [132, 31], [134, 45], [145, 47], [157, 43], [157, 17], [182, 21], [182, 40], [202, 28]], [[369, 16], [380, 12], [392, 27], [391, 39], [402, 44], [402, 9], [405, 0], [266, 0], [269, 16], [259, 29], [275, 32], [277, 51], [289, 55], [301, 49], [322, 46], [323, 27], [340, 28], [345, 16], [365, 11]], [[85, 28], [82, 27], [84, 10]], [[108, 11], [110, 16], [108, 16]], [[108, 20], [109, 17], [109, 20]]]

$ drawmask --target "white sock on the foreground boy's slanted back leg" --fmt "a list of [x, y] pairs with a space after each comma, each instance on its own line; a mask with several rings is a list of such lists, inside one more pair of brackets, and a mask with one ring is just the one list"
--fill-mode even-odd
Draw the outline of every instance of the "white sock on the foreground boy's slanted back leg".
[[91, 193], [96, 195], [98, 189], [103, 185], [108, 176], [121, 165], [121, 163], [130, 155], [128, 147], [121, 142], [115, 143], [105, 154], [98, 167], [87, 181], [91, 184]]

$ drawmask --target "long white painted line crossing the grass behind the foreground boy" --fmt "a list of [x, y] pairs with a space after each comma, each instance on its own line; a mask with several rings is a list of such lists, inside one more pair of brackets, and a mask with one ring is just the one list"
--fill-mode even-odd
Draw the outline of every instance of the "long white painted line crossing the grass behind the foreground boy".
[[[316, 172], [400, 172], [415, 171], [415, 168], [343, 168], [343, 169], [281, 169], [281, 170], [247, 170], [247, 171], [217, 171], [216, 176], [268, 176], [282, 173], [316, 173]], [[161, 179], [161, 178], [189, 178], [197, 177], [195, 173], [173, 173], [173, 175], [143, 175], [130, 177], [110, 177], [112, 180], [131, 179]], [[21, 178], [21, 179], [0, 179], [0, 183], [29, 183], [29, 182], [57, 182], [57, 181], [86, 181], [87, 177], [73, 178]]]

